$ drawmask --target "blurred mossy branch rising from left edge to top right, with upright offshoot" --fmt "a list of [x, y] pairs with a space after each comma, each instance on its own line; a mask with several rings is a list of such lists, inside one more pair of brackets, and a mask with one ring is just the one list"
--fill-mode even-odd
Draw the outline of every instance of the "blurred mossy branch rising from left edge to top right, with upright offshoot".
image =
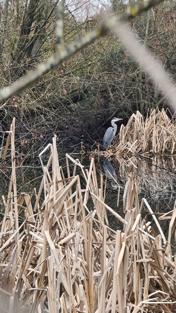
[[[57, 67], [64, 60], [69, 59], [79, 50], [87, 46], [89, 43], [94, 42], [100, 36], [107, 34], [112, 29], [115, 31], [115, 33], [117, 33], [116, 30], [118, 29], [119, 25], [121, 25], [121, 27], [124, 27], [122, 22], [134, 18], [139, 13], [148, 10], [150, 7], [161, 3], [162, 1], [163, 0], [138, 0], [134, 5], [128, 7], [128, 9], [125, 12], [119, 14], [118, 16], [105, 16], [104, 18], [102, 18], [102, 20], [98, 23], [98, 26], [93, 31], [87, 33], [85, 36], [80, 37], [77, 41], [72, 42], [67, 47], [63, 43], [63, 33], [62, 33], [63, 2], [60, 2], [56, 30], [58, 51], [55, 54], [53, 54], [47, 61], [41, 63], [36, 70], [30, 71], [27, 75], [23, 76], [21, 79], [17, 80], [12, 85], [3, 88], [0, 91], [0, 102], [9, 99], [11, 96], [19, 93], [21, 90], [25, 89], [30, 84], [38, 81], [43, 75], [49, 73], [53, 68]], [[123, 32], [123, 29], [122, 28], [120, 29]], [[120, 34], [118, 33], [118, 36]], [[122, 38], [121, 35], [120, 38]], [[128, 48], [130, 50], [130, 47]], [[135, 59], [137, 59], [138, 50], [136, 50], [136, 53], [135, 51], [133, 52]], [[145, 66], [144, 63], [142, 63], [141, 65]]]

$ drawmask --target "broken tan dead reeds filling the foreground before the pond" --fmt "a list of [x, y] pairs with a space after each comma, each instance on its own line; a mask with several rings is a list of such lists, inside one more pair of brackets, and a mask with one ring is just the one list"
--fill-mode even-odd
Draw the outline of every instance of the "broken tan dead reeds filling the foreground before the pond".
[[[67, 154], [64, 171], [56, 137], [39, 155], [39, 190], [18, 194], [14, 138], [15, 121], [3, 151], [5, 158], [11, 143], [12, 175], [0, 223], [0, 312], [176, 312], [176, 205], [160, 217], [170, 219], [166, 238], [147, 201], [139, 203], [129, 175], [118, 215], [106, 205], [94, 159], [85, 169]], [[141, 217], [144, 207], [153, 226]], [[121, 230], [109, 226], [108, 214]]]

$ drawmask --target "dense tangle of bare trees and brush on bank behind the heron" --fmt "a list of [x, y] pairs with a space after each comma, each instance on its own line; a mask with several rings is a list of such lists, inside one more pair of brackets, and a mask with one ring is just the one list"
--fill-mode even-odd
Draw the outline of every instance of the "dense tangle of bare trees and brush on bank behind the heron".
[[[132, 1], [129, 1], [132, 2]], [[0, 4], [0, 87], [12, 83], [56, 49], [58, 0], [5, 0]], [[88, 5], [88, 6], [87, 6]], [[129, 3], [130, 5], [130, 3]], [[127, 4], [112, 1], [94, 7], [87, 2], [65, 5], [64, 38], [72, 42], [95, 27], [103, 11], [118, 14]], [[88, 10], [89, 8], [89, 10]], [[139, 41], [175, 78], [176, 2], [166, 1], [129, 22]], [[102, 137], [106, 121], [116, 115], [124, 123], [133, 112], [166, 106], [167, 99], [124, 50], [114, 34], [100, 38], [43, 77], [0, 109], [1, 130], [16, 117], [19, 153], [33, 156], [53, 133], [58, 143]], [[2, 133], [1, 133], [2, 134]], [[32, 149], [32, 150], [31, 150]], [[37, 152], [38, 153], [38, 152]], [[29, 161], [31, 162], [30, 158]]]

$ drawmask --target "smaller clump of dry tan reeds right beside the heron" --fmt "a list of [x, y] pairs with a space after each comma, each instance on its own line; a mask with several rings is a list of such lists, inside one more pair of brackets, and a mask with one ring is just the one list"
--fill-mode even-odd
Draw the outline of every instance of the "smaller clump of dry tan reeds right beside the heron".
[[146, 120], [137, 111], [126, 126], [121, 125], [113, 148], [117, 159], [141, 153], [176, 154], [176, 120], [164, 109], [152, 109]]

